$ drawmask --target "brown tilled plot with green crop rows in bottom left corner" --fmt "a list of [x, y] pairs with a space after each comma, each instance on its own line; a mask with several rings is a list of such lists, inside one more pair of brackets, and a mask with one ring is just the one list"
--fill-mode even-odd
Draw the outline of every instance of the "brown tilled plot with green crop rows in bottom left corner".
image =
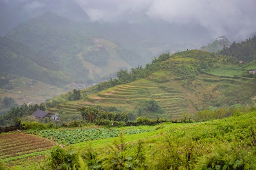
[[[21, 132], [1, 134], [0, 159], [6, 161], [7, 166], [19, 166], [19, 163], [27, 166], [24, 162], [30, 159], [36, 159], [36, 162], [43, 161], [47, 150], [54, 145], [55, 143], [49, 140]], [[23, 161], [19, 161], [20, 159]]]

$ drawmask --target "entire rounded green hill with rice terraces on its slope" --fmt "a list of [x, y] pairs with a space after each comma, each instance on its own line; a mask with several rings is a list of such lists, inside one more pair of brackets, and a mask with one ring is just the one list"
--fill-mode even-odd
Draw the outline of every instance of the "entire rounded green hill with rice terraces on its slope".
[[133, 68], [130, 73], [121, 70], [117, 73], [119, 79], [82, 90], [82, 100], [64, 102], [68, 94], [56, 97], [61, 103], [49, 111], [80, 119], [79, 107], [96, 106], [125, 111], [130, 119], [174, 118], [209, 108], [254, 105], [255, 78], [248, 76], [252, 64], [240, 66], [223, 58], [199, 50], [162, 54], [145, 68]]

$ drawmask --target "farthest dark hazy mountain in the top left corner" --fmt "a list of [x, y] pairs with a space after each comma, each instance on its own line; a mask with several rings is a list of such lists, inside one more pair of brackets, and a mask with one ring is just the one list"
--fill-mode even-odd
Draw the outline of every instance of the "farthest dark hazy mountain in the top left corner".
[[0, 35], [6, 35], [20, 22], [52, 11], [74, 21], [90, 21], [89, 16], [75, 1], [71, 0], [25, 0], [0, 1]]

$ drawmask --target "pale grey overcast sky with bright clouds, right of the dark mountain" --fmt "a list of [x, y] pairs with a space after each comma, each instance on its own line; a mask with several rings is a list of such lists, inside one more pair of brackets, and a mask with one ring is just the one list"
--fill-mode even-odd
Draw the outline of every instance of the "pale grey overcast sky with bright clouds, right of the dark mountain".
[[216, 35], [256, 32], [256, 0], [76, 0], [91, 20], [132, 18], [147, 13], [178, 24], [200, 24]]

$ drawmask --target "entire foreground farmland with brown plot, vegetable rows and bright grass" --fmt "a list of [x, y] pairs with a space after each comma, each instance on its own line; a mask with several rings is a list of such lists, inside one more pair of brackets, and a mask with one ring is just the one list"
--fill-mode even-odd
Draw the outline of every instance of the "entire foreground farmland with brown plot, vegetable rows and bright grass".
[[[112, 144], [115, 140], [119, 141], [118, 133], [123, 131], [125, 146], [128, 149], [124, 152], [125, 155], [132, 155], [136, 150], [137, 142], [142, 140], [144, 154], [148, 163], [150, 163], [150, 159], [153, 159], [153, 157], [157, 158], [155, 161], [161, 161], [159, 154], [162, 154], [161, 150], [166, 144], [166, 139], [170, 138], [172, 146], [177, 148], [181, 155], [187, 152], [193, 153], [191, 155], [191, 160], [193, 161], [190, 161], [190, 163], [191, 165], [193, 163], [192, 167], [195, 169], [197, 166], [200, 166], [200, 163], [202, 164], [202, 159], [207, 159], [207, 157], [211, 157], [211, 155], [217, 152], [223, 152], [222, 155], [219, 155], [221, 159], [229, 162], [231, 160], [239, 160], [243, 162], [244, 166], [249, 162], [251, 163], [250, 167], [255, 167], [256, 160], [253, 158], [253, 153], [256, 150], [253, 146], [251, 127], [254, 130], [256, 128], [255, 112], [241, 112], [229, 118], [199, 123], [162, 123], [155, 126], [91, 127], [91, 129], [72, 128], [29, 132], [34, 133], [34, 135], [27, 135], [26, 132], [9, 132], [0, 135], [0, 158], [9, 167], [16, 166], [18, 170], [29, 170], [43, 165], [50, 152], [49, 149], [54, 145], [54, 141], [57, 143], [59, 140], [59, 144], [65, 144], [60, 139], [71, 137], [76, 142], [66, 147], [82, 151], [90, 145], [93, 150], [104, 152], [108, 145]], [[89, 140], [83, 141], [82, 139], [85, 137], [85, 134], [90, 137], [87, 137]], [[15, 140], [12, 140], [11, 137], [15, 137]], [[31, 142], [31, 140], [34, 142]], [[218, 151], [221, 147], [222, 150]], [[236, 156], [234, 155], [233, 147], [236, 148]], [[249, 150], [251, 153], [249, 153]], [[248, 152], [246, 157], [243, 155], [245, 152]], [[230, 156], [225, 157], [225, 154], [230, 154]], [[217, 163], [217, 159], [220, 158], [215, 157], [211, 159], [213, 164]], [[33, 160], [36, 160], [36, 163]], [[156, 166], [155, 164], [157, 162], [151, 161], [150, 163], [152, 166]], [[199, 168], [197, 169], [199, 170]]]

